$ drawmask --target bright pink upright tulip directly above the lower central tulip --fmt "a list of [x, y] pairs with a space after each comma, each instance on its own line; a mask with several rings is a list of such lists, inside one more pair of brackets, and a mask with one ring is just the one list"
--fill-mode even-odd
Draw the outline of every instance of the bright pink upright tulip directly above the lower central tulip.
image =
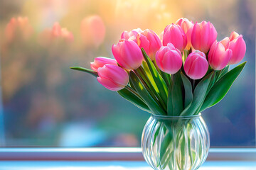
[[175, 25], [174, 23], [166, 26], [163, 35], [163, 45], [167, 45], [169, 42], [180, 51], [186, 47], [187, 38], [181, 26]]

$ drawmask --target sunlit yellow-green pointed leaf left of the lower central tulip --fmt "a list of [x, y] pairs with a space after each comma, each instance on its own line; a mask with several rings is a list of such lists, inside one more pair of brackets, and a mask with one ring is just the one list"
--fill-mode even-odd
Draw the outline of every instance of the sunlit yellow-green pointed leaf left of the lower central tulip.
[[156, 83], [157, 88], [159, 89], [159, 95], [163, 99], [165, 103], [167, 103], [167, 94], [168, 94], [168, 88], [166, 86], [166, 83], [164, 79], [161, 77], [159, 72], [157, 72], [156, 67], [154, 67], [153, 62], [149, 59], [149, 57], [146, 55], [146, 52], [142, 48], [142, 54], [144, 56], [144, 59], [146, 61], [146, 64], [149, 67], [149, 70], [151, 72], [151, 75]]

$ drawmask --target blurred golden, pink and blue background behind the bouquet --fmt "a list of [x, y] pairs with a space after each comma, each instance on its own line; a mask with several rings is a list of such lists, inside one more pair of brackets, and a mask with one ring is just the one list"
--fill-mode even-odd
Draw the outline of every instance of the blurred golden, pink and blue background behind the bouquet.
[[139, 147], [149, 114], [69, 67], [113, 57], [124, 30], [160, 34], [178, 18], [235, 30], [247, 65], [227, 96], [203, 112], [211, 147], [255, 147], [253, 0], [0, 0], [0, 142], [4, 147]]

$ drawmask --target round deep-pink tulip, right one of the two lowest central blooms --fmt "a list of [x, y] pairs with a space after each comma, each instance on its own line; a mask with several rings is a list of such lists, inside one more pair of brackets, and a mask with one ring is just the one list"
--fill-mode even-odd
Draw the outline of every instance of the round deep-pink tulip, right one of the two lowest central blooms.
[[206, 55], [198, 50], [191, 52], [186, 58], [184, 70], [191, 79], [201, 79], [208, 70]]

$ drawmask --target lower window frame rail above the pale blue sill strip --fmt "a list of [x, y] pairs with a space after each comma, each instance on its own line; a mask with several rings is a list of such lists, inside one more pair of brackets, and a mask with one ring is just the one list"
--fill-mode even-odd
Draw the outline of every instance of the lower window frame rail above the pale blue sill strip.
[[[139, 147], [0, 148], [6, 161], [144, 161]], [[256, 162], [256, 148], [211, 148], [208, 161]]]

